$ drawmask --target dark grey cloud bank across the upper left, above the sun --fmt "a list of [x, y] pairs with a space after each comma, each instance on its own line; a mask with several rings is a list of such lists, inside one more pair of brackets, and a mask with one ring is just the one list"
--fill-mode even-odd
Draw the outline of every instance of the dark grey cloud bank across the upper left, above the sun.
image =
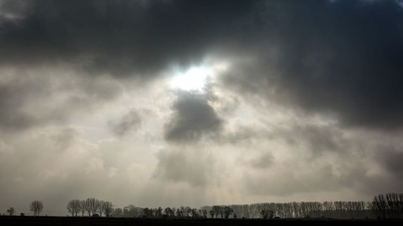
[[[18, 4], [6, 1], [3, 11]], [[115, 76], [149, 75], [198, 61], [233, 33], [249, 1], [30, 1], [0, 18], [0, 64], [58, 62]], [[231, 3], [231, 4], [229, 4]]]

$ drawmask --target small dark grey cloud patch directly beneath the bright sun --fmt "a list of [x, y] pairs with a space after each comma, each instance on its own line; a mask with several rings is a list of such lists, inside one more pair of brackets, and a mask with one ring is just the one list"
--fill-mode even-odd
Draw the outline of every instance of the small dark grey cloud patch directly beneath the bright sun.
[[174, 112], [165, 128], [165, 139], [172, 142], [195, 142], [203, 135], [214, 134], [222, 128], [220, 119], [205, 95], [179, 92]]

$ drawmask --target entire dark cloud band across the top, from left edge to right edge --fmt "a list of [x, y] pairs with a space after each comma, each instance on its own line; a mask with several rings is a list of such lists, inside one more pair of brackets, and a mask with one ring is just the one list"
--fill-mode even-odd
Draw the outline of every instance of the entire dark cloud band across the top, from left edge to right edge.
[[396, 1], [17, 3], [2, 4], [3, 15], [19, 15], [0, 18], [2, 65], [61, 62], [147, 80], [210, 53], [251, 57], [234, 67], [227, 85], [334, 113], [345, 125], [403, 123], [403, 10]]

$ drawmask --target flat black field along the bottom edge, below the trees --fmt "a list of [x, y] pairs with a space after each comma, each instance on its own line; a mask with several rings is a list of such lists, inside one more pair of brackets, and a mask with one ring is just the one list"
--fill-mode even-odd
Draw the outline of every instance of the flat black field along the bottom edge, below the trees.
[[[141, 219], [141, 218], [73, 218], [73, 217], [0, 217], [0, 225], [273, 225], [273, 224], [328, 224], [328, 223], [383, 223], [376, 220], [336, 220], [336, 219]], [[395, 221], [400, 224], [402, 221]], [[389, 222], [390, 223], [390, 222]]]

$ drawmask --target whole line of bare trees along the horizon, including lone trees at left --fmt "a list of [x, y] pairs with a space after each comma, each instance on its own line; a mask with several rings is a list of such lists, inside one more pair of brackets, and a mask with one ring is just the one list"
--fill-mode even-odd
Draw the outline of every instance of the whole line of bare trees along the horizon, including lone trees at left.
[[[41, 201], [29, 204], [34, 216], [44, 209]], [[337, 218], [337, 219], [401, 219], [403, 218], [403, 193], [374, 196], [372, 201], [324, 201], [288, 203], [252, 203], [245, 205], [213, 205], [199, 209], [189, 206], [141, 208], [128, 205], [113, 208], [110, 201], [87, 198], [73, 199], [66, 205], [71, 216], [143, 217], [143, 218]], [[7, 210], [14, 215], [15, 209]], [[21, 216], [24, 216], [21, 213]]]

